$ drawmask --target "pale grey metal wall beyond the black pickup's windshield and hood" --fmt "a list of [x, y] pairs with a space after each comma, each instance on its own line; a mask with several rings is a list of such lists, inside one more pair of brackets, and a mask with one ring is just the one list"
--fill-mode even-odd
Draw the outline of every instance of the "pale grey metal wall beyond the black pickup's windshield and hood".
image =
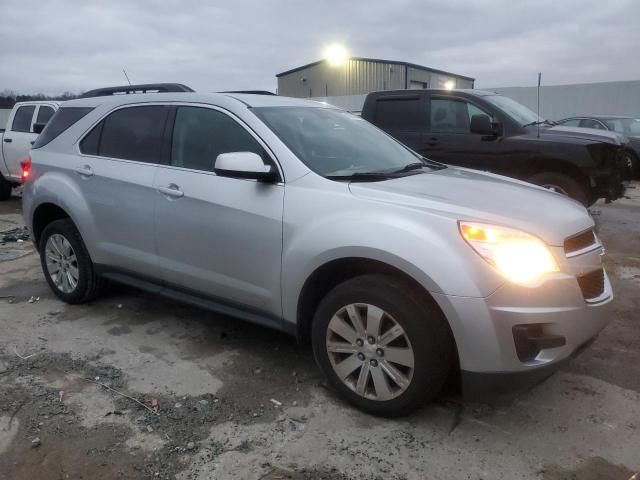
[[[483, 88], [537, 108], [537, 87]], [[640, 80], [549, 85], [540, 88], [540, 114], [549, 120], [578, 115], [640, 116]]]

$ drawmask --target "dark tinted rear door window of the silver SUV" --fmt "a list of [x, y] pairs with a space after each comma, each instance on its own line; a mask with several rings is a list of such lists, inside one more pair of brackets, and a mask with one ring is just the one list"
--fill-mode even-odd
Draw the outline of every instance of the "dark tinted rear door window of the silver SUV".
[[[81, 143], [81, 151], [102, 157], [159, 163], [168, 111], [169, 107], [162, 105], [116, 110], [96, 127], [101, 128], [99, 139], [95, 138], [95, 128], [85, 137]], [[84, 144], [89, 138], [92, 138], [93, 143]], [[86, 146], [95, 150], [96, 144], [95, 153], [82, 149]]]

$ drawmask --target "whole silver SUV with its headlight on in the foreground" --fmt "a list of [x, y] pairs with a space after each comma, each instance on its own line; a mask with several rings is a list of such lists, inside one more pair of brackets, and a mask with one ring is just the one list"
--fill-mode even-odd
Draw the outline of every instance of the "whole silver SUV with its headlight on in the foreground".
[[456, 373], [476, 397], [539, 380], [610, 317], [573, 200], [432, 162], [325, 104], [108, 93], [64, 103], [23, 163], [66, 302], [110, 279], [310, 339], [335, 389], [387, 416]]

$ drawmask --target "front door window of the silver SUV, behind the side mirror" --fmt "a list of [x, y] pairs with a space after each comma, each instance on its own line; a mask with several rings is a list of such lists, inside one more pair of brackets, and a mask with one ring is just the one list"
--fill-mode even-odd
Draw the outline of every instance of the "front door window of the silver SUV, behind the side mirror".
[[221, 153], [253, 152], [271, 163], [253, 136], [228, 115], [210, 108], [178, 107], [171, 165], [213, 172]]

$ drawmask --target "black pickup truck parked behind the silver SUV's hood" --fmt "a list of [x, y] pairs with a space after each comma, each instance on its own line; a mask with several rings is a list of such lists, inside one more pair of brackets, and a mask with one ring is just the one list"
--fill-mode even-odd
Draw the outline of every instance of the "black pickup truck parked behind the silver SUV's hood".
[[493, 92], [374, 92], [362, 117], [425, 157], [535, 183], [584, 205], [622, 196], [629, 173], [623, 136], [556, 126]]

